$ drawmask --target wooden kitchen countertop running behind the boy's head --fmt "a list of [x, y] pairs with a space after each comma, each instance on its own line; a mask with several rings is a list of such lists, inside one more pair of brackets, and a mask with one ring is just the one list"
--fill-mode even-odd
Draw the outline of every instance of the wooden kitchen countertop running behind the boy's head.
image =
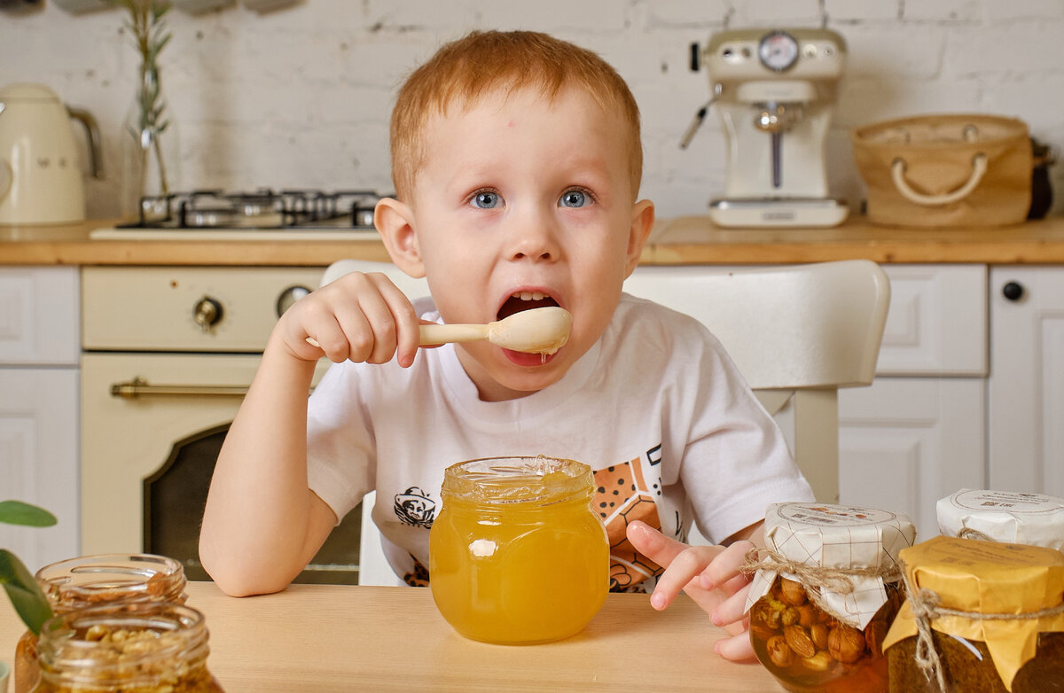
[[[90, 240], [95, 220], [0, 226], [0, 265], [326, 266], [388, 261], [379, 240]], [[643, 265], [772, 265], [867, 258], [877, 263], [1064, 264], [1064, 217], [995, 229], [890, 229], [858, 218], [834, 229], [715, 227], [708, 217], [658, 222]]]

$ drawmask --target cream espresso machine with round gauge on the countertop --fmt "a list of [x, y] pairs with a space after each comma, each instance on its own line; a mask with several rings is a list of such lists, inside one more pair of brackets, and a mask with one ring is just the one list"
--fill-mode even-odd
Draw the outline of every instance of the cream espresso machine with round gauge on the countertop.
[[825, 138], [846, 41], [828, 29], [724, 31], [692, 67], [705, 66], [714, 96], [684, 135], [685, 147], [714, 105], [727, 140], [724, 197], [710, 203], [718, 226], [834, 226], [845, 203], [828, 195]]

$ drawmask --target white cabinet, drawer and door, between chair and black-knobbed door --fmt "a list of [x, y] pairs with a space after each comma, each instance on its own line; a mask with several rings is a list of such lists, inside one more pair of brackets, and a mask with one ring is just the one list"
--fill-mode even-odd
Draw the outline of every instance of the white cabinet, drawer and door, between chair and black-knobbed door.
[[930, 537], [938, 498], [986, 484], [987, 268], [884, 269], [876, 382], [838, 392], [839, 500], [905, 512]]

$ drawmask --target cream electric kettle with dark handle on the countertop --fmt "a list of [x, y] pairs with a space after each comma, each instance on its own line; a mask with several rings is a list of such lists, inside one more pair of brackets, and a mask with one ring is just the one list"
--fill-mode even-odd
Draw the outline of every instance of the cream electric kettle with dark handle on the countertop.
[[85, 186], [70, 119], [87, 135], [93, 176], [103, 178], [100, 134], [88, 112], [40, 84], [0, 89], [0, 224], [63, 224], [85, 218]]

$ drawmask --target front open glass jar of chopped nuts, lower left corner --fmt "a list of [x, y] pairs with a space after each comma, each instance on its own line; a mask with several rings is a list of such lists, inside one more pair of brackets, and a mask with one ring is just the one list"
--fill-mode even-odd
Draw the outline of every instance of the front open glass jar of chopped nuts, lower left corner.
[[221, 693], [206, 666], [203, 614], [186, 606], [128, 603], [47, 621], [33, 693]]

